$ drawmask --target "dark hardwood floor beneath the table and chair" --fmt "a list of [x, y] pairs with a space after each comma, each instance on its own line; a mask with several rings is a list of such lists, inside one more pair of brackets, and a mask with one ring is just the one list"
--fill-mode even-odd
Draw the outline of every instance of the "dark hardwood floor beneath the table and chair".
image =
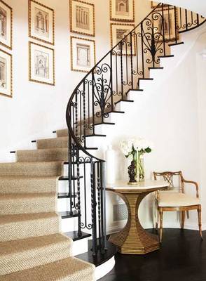
[[164, 229], [160, 250], [116, 254], [116, 266], [101, 281], [206, 281], [206, 231], [203, 239], [195, 230]]

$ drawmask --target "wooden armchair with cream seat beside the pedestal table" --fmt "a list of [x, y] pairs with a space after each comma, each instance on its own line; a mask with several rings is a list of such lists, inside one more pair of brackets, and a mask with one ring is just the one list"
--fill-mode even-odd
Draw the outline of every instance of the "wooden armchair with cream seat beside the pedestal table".
[[[164, 171], [162, 173], [153, 172], [154, 179], [164, 178], [169, 183], [167, 190], [156, 193], [156, 204], [158, 208], [158, 219], [156, 229], [158, 229], [160, 221], [160, 242], [163, 240], [163, 211], [181, 211], [181, 228], [184, 228], [185, 212], [191, 210], [198, 211], [198, 225], [200, 236], [202, 238], [202, 223], [201, 223], [201, 204], [199, 199], [198, 183], [195, 181], [186, 181], [182, 176], [181, 171], [172, 172]], [[174, 187], [174, 176], [179, 177], [179, 187]], [[185, 183], [195, 185], [196, 197], [186, 195], [184, 193]]]

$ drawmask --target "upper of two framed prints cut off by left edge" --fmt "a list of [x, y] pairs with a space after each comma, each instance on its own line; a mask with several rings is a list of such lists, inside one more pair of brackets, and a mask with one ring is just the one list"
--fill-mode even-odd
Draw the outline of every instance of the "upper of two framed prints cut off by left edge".
[[12, 8], [0, 0], [0, 44], [12, 48]]

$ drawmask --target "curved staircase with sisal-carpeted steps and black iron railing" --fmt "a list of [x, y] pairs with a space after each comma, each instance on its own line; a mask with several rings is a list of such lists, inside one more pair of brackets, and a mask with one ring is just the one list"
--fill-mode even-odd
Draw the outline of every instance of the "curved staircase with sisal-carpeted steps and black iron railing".
[[[165, 30], [165, 17], [174, 30]], [[204, 22], [159, 4], [76, 86], [67, 106], [68, 129], [34, 141], [36, 150], [15, 152], [15, 163], [0, 164], [0, 280], [94, 280], [95, 266], [72, 256], [72, 239], [60, 233], [61, 217], [77, 218], [78, 238], [83, 230], [92, 235], [92, 261], [114, 256], [115, 250], [107, 255], [105, 162], [94, 156], [97, 148], [89, 140], [104, 137], [99, 127], [114, 125], [108, 118], [124, 113], [120, 103], [133, 102], [130, 91], [142, 92], [150, 72], [163, 69], [161, 58], [172, 57], [170, 47], [182, 44], [179, 34]], [[67, 192], [58, 193], [59, 181], [68, 181]], [[57, 197], [69, 199], [67, 211], [57, 213]]]

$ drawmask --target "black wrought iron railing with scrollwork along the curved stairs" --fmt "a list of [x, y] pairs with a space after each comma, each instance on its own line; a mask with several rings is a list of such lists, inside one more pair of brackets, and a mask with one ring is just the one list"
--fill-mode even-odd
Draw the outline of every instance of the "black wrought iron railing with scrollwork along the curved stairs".
[[116, 103], [127, 100], [130, 90], [141, 91], [139, 81], [149, 79], [149, 70], [160, 67], [160, 57], [170, 55], [179, 34], [203, 22], [205, 18], [184, 8], [159, 4], [99, 60], [71, 94], [67, 105], [69, 194], [77, 192], [77, 197], [71, 197], [70, 213], [78, 211], [79, 235], [82, 228], [92, 230], [94, 254], [104, 251], [106, 241], [105, 162], [88, 152], [87, 138], [99, 136], [96, 126], [109, 124], [109, 113], [116, 112]]

